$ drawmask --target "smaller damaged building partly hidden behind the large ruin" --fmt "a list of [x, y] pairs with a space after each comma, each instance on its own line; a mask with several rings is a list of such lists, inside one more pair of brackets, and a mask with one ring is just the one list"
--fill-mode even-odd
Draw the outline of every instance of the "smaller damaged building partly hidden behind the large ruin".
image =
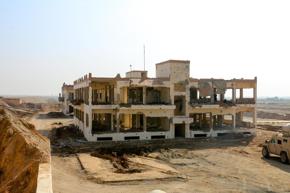
[[73, 106], [69, 104], [73, 100], [73, 85], [63, 85], [58, 100], [61, 102], [61, 111], [64, 115], [73, 116]]

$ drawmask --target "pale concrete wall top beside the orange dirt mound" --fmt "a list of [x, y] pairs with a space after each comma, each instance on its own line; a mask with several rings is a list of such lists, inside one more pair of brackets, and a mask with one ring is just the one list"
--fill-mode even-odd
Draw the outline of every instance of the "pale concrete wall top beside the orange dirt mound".
[[36, 193], [53, 193], [51, 179], [51, 161], [50, 163], [41, 163], [38, 166]]

